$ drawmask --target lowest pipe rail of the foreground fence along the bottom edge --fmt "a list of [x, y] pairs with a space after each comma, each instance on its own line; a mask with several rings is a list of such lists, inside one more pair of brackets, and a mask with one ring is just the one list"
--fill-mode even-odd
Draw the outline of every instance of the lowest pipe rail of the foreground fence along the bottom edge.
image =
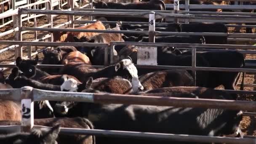
[[110, 131], [97, 129], [81, 129], [81, 128], [61, 128], [62, 134], [80, 134], [80, 135], [96, 135], [110, 137], [125, 137], [125, 138], [143, 138], [156, 140], [172, 140], [172, 141], [187, 141], [187, 142], [213, 142], [213, 143], [232, 143], [232, 144], [253, 144], [255, 139], [250, 138], [229, 138], [220, 136], [196, 136], [185, 134], [169, 134], [169, 133], [147, 133], [135, 131]]

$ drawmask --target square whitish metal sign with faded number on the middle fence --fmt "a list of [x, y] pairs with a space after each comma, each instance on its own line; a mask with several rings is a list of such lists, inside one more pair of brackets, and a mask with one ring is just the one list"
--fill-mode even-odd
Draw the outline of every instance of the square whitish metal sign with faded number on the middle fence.
[[157, 65], [157, 47], [138, 47], [137, 64]]

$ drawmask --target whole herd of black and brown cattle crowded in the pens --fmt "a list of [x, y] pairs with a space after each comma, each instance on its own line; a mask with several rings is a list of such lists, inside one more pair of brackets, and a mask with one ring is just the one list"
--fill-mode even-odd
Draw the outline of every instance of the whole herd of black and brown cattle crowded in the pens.
[[[152, 9], [165, 10], [161, 0], [143, 3], [94, 2], [96, 8]], [[101, 21], [86, 24], [79, 29], [101, 30], [148, 30], [148, 25], [122, 24], [123, 21], [138, 21], [138, 18], [122, 19], [107, 17], [108, 21], [118, 21], [115, 25]], [[143, 19], [140, 19], [144, 21]], [[147, 19], [148, 21], [148, 19]], [[160, 19], [164, 21], [164, 19]], [[164, 27], [156, 24], [161, 32], [221, 32], [227, 27], [221, 23], [170, 23]], [[96, 32], [57, 32], [53, 31], [54, 42], [108, 43], [111, 41], [148, 42], [147, 35], [96, 33]], [[170, 35], [156, 36], [156, 43], [196, 43], [227, 44], [227, 36]], [[243, 90], [245, 73], [197, 71], [196, 74], [184, 69], [145, 69], [137, 68], [135, 45], [116, 45], [114, 64], [104, 65], [104, 48], [97, 46], [59, 46], [54, 51], [43, 50], [41, 64], [63, 64], [59, 69], [42, 68], [35, 59], [16, 59], [16, 67], [4, 77], [0, 73], [0, 88], [21, 88], [31, 86], [50, 91], [71, 91], [88, 93], [116, 93], [140, 96], [173, 96], [193, 99], [236, 100], [237, 94], [229, 94], [214, 88], [223, 85], [235, 90], [240, 77]], [[109, 54], [108, 54], [109, 55]], [[109, 57], [108, 57], [109, 59]], [[157, 64], [166, 66], [191, 66], [192, 52], [187, 48], [157, 47]], [[197, 67], [243, 68], [245, 56], [237, 51], [197, 51]], [[195, 80], [196, 77], [196, 80]], [[194, 85], [196, 84], [196, 85]], [[17, 101], [0, 101], [0, 120], [20, 121], [21, 107]], [[188, 144], [188, 142], [163, 139], [113, 138], [104, 135], [86, 136], [59, 133], [60, 127], [103, 129], [117, 131], [140, 131], [154, 133], [175, 133], [202, 136], [243, 137], [240, 123], [243, 113], [240, 110], [212, 108], [158, 107], [146, 105], [96, 104], [74, 101], [35, 101], [35, 125], [50, 126], [50, 129], [33, 130], [31, 133], [12, 133], [0, 136], [4, 144]], [[1, 125], [1, 122], [0, 122]], [[0, 133], [11, 133], [2, 131]], [[192, 143], [192, 142], [191, 142]], [[190, 144], [190, 143], [189, 143]]]

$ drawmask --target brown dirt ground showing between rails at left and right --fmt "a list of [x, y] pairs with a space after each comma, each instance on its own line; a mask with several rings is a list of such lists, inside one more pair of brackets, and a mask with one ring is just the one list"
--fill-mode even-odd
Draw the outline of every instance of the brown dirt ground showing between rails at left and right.
[[[57, 16], [53, 19], [53, 21], [54, 21], [54, 26], [62, 24], [62, 23], [67, 21], [67, 16]], [[41, 26], [43, 24], [46, 24], [46, 23], [47, 23], [47, 17], [46, 16], [43, 16], [43, 17], [37, 19], [37, 27]], [[30, 22], [24, 21], [23, 26], [34, 27], [32, 21], [30, 21]], [[7, 31], [9, 29], [12, 29], [12, 28], [13, 28], [12, 25], [7, 25], [7, 26], [1, 28], [0, 32], [5, 32], [5, 31]], [[234, 32], [234, 28], [229, 28], [229, 32]], [[245, 32], [245, 28], [241, 28], [240, 32]], [[255, 29], [254, 29], [254, 32], [255, 32]], [[35, 32], [28, 32], [28, 33], [24, 34], [22, 36], [23, 40], [24, 41], [35, 40], [34, 34], [35, 34]], [[43, 35], [46, 35], [46, 34], [47, 34], [47, 32], [37, 31], [37, 38], [40, 38], [40, 37], [42, 37]], [[1, 37], [0, 40], [14, 40], [14, 34], [10, 34], [10, 35], [6, 35], [5, 37]], [[232, 44], [245, 44], [245, 43], [232, 43]], [[250, 44], [253, 44], [253, 43], [250, 43]], [[7, 47], [7, 46], [8, 45], [0, 45], [0, 50]], [[42, 47], [37, 47], [38, 50], [40, 50], [41, 48]], [[35, 51], [36, 51], [36, 48], [32, 47], [32, 52], [35, 52]], [[23, 56], [27, 56], [27, 47], [26, 46], [23, 47]], [[40, 53], [39, 56], [40, 56], [40, 59], [43, 58], [42, 53]], [[255, 58], [256, 58], [256, 55], [252, 55], [252, 54], [248, 54], [246, 56], [246, 59], [255, 59]], [[0, 63], [8, 64], [8, 63], [13, 62], [13, 61], [14, 61], [14, 50], [5, 51], [4, 53], [0, 54]], [[5, 75], [8, 75], [9, 73], [10, 73], [10, 70], [5, 71]], [[254, 74], [246, 74], [245, 83], [250, 83], [250, 84], [251, 83], [256, 83], [255, 78], [256, 77], [255, 77]], [[218, 89], [223, 89], [223, 87], [220, 86]], [[237, 89], [239, 89], [239, 87], [237, 87]], [[245, 90], [253, 91], [253, 88], [246, 87]], [[239, 99], [240, 100], [246, 100], [246, 101], [255, 101], [256, 96], [254, 96], [254, 95], [241, 96]], [[243, 121], [242, 121], [242, 131], [245, 135], [256, 136], [256, 117], [245, 117], [244, 116]]]

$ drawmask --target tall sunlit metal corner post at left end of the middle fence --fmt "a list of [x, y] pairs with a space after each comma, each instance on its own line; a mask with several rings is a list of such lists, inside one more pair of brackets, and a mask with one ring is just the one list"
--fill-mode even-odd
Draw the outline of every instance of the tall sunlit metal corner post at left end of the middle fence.
[[[14, 18], [13, 19], [14, 27], [19, 27], [19, 31], [15, 32], [15, 40], [22, 41], [22, 34], [21, 34], [22, 21], [21, 21], [20, 11], [18, 12], [18, 14], [14, 15], [13, 18]], [[19, 47], [15, 48], [15, 59], [19, 56], [22, 58], [22, 45], [19, 45]]]

